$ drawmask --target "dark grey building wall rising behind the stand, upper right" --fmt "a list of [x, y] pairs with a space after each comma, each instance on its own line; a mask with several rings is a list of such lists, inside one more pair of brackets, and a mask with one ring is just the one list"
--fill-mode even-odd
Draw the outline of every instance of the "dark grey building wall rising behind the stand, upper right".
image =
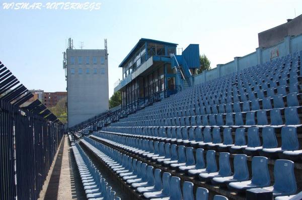
[[267, 48], [282, 42], [285, 36], [302, 34], [302, 15], [258, 34], [259, 47]]

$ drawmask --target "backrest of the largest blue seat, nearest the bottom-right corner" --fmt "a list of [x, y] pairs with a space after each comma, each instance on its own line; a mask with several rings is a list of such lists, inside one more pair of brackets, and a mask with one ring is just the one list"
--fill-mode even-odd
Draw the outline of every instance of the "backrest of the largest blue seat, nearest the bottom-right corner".
[[274, 164], [274, 190], [294, 194], [297, 190], [294, 176], [294, 163], [290, 160], [276, 160]]

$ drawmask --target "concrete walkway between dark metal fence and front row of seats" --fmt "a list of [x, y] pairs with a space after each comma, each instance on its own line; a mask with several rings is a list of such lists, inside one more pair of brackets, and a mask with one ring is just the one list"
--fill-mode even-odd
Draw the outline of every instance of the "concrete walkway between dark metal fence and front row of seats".
[[86, 199], [68, 136], [62, 139], [39, 199]]

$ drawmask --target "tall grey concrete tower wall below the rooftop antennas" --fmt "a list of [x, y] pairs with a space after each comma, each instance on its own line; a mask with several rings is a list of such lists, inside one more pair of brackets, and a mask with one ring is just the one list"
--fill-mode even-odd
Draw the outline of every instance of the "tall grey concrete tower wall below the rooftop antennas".
[[[72, 127], [109, 109], [108, 59], [101, 64], [105, 50], [71, 49], [66, 53], [68, 127]], [[75, 58], [74, 64], [70, 62], [71, 56]], [[78, 64], [79, 56], [82, 56], [82, 64]], [[85, 63], [86, 56], [89, 56], [89, 64]], [[93, 56], [97, 57], [97, 64], [93, 64]], [[80, 68], [82, 74], [79, 74]]]

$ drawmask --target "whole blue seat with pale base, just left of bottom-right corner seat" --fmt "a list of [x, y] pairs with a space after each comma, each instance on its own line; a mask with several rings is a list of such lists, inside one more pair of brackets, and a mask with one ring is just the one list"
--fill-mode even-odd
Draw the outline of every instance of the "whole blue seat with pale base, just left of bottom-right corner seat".
[[237, 191], [266, 187], [270, 184], [270, 175], [267, 166], [268, 159], [262, 156], [254, 156], [252, 159], [252, 179], [240, 182], [231, 182], [229, 187]]

